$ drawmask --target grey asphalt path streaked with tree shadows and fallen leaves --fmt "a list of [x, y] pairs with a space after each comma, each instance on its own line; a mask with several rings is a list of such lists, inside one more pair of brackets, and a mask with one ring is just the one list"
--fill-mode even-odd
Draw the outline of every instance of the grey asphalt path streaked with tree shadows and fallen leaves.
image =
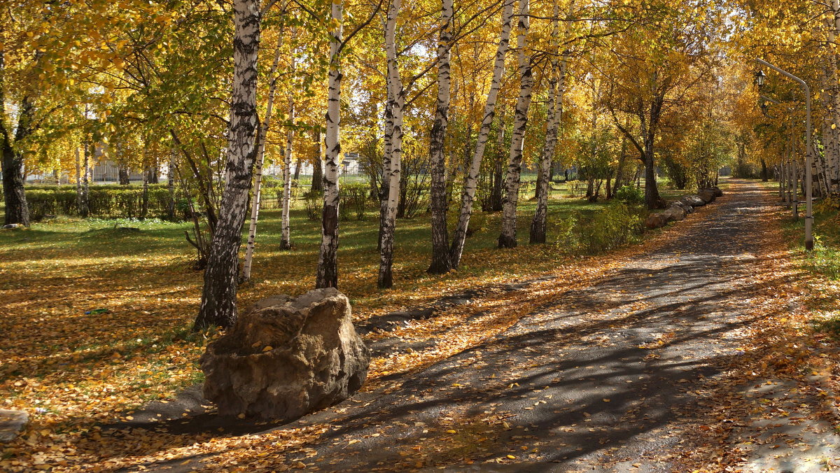
[[[701, 421], [699, 406], [709, 401], [701, 388], [741, 356], [751, 301], [767, 283], [753, 278], [763, 256], [750, 236], [768, 224], [763, 215], [774, 197], [738, 182], [711, 212], [680, 223], [693, 225], [684, 238], [627, 260], [391, 392], [360, 394], [286, 426], [330, 424], [286, 465], [674, 470], [668, 452], [694, 440], [685, 425]], [[836, 451], [824, 447], [821, 455]], [[750, 461], [753, 470], [779, 466]]]

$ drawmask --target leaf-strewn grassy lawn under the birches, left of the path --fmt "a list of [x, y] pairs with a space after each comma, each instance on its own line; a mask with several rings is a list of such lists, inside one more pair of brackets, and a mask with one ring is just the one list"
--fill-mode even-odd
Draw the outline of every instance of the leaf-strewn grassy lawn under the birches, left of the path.
[[[530, 195], [530, 193], [528, 194]], [[553, 192], [550, 221], [604, 203]], [[339, 289], [356, 318], [413, 307], [458, 292], [537, 276], [563, 263], [549, 245], [528, 245], [535, 203], [522, 199], [520, 247], [497, 250], [500, 213], [475, 213], [481, 229], [467, 240], [461, 268], [429, 276], [428, 215], [396, 230], [395, 288], [376, 288], [376, 210], [341, 222]], [[123, 233], [115, 224], [139, 227]], [[150, 398], [167, 397], [201, 379], [197, 359], [207, 339], [189, 334], [202, 275], [191, 269], [187, 223], [60, 218], [31, 229], [0, 230], [0, 407], [37, 409], [43, 424], [71, 428]], [[301, 294], [314, 284], [320, 223], [299, 203], [291, 213], [295, 249], [278, 250], [280, 211], [261, 213], [253, 279], [240, 307], [276, 293]], [[549, 239], [552, 237], [549, 232]], [[86, 313], [108, 309], [107, 313]]]

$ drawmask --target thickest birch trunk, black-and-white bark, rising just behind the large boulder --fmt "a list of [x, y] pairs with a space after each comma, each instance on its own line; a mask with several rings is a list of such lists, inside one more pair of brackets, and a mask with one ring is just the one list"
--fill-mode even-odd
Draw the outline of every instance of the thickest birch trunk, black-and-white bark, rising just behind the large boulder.
[[202, 303], [193, 329], [236, 322], [236, 286], [242, 223], [256, 156], [257, 53], [260, 49], [259, 0], [234, 0], [234, 80], [230, 101], [226, 185], [218, 225], [204, 270]]

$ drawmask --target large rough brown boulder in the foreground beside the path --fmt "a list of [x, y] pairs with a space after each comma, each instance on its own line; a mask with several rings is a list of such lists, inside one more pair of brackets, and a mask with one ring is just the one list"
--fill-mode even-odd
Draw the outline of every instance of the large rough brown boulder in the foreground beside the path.
[[256, 302], [201, 357], [204, 397], [220, 415], [291, 421], [356, 392], [370, 349], [334, 288]]

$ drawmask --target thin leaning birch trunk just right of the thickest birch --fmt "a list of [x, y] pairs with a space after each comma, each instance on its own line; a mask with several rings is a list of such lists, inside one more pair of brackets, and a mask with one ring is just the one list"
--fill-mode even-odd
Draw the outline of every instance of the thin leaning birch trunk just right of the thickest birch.
[[260, 134], [257, 138], [257, 155], [254, 168], [254, 199], [251, 201], [251, 219], [248, 224], [248, 243], [245, 244], [245, 260], [242, 265], [242, 277], [240, 282], [251, 279], [251, 266], [254, 261], [254, 249], [257, 238], [257, 221], [260, 218], [260, 202], [262, 202], [262, 172], [265, 164], [265, 137], [271, 124], [271, 113], [274, 111], [274, 96], [277, 91], [277, 69], [280, 67], [280, 48], [283, 45], [283, 35], [277, 35], [277, 50], [274, 60], [271, 62], [269, 77], [271, 82], [268, 87], [268, 97], [265, 103], [265, 118], [260, 124]]

